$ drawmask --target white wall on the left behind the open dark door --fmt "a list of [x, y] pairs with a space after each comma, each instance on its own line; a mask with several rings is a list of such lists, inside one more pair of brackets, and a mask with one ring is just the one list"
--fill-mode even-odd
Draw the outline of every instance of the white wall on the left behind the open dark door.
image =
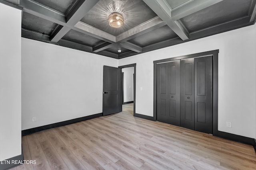
[[118, 60], [22, 38], [22, 130], [102, 113], [103, 65]]

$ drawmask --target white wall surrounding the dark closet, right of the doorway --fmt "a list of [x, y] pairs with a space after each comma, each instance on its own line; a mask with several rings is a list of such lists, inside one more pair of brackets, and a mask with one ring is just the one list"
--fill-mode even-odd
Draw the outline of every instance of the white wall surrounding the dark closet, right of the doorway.
[[136, 113], [153, 116], [153, 61], [219, 49], [218, 130], [256, 138], [255, 38], [252, 25], [120, 59], [119, 66], [136, 63]]

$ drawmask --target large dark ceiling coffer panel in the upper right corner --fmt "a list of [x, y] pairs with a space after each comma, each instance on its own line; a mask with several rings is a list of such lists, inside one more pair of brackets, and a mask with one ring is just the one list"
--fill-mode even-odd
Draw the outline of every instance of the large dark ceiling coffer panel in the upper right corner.
[[181, 19], [189, 32], [248, 15], [251, 0], [223, 0]]

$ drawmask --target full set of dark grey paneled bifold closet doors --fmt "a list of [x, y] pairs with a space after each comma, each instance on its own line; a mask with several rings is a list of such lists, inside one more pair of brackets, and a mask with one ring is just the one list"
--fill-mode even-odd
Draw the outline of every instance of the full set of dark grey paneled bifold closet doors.
[[212, 134], [212, 56], [156, 65], [156, 119]]

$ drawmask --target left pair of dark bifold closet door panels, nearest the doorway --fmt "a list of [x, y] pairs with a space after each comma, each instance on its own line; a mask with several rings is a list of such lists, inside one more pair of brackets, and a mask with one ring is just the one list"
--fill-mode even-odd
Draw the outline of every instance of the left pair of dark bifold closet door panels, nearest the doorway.
[[157, 64], [157, 120], [180, 126], [180, 61]]

